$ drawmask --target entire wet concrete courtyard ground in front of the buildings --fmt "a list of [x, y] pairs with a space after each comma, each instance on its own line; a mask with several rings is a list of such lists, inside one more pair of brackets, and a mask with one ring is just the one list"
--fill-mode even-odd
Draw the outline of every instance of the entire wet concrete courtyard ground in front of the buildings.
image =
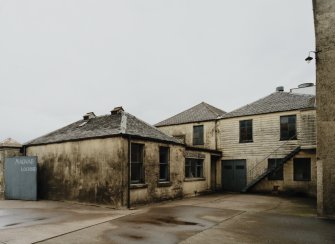
[[0, 201], [0, 243], [335, 243], [315, 201], [214, 194], [115, 210]]

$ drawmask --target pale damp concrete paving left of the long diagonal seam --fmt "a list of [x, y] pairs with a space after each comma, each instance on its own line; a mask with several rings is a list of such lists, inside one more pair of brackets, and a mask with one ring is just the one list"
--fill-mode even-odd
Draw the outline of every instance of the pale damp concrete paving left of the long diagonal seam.
[[58, 201], [0, 201], [0, 244], [35, 243], [132, 214]]

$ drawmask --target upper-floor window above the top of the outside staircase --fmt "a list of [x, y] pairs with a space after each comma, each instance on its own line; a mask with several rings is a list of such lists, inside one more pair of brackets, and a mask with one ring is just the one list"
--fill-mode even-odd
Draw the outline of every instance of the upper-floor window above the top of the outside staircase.
[[281, 116], [280, 117], [280, 140], [296, 140], [297, 139], [297, 116]]

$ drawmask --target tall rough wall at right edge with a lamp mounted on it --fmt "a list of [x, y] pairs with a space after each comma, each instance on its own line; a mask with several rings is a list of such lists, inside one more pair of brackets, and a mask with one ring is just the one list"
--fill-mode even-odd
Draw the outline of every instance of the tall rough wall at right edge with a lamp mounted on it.
[[335, 1], [314, 0], [318, 213], [335, 218]]

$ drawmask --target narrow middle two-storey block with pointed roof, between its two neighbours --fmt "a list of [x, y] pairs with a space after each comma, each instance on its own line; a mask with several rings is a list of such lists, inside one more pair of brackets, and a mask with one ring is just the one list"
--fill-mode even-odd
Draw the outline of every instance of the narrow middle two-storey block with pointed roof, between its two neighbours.
[[217, 132], [218, 120], [224, 114], [202, 102], [155, 125], [186, 145], [184, 192], [204, 192], [220, 186]]

